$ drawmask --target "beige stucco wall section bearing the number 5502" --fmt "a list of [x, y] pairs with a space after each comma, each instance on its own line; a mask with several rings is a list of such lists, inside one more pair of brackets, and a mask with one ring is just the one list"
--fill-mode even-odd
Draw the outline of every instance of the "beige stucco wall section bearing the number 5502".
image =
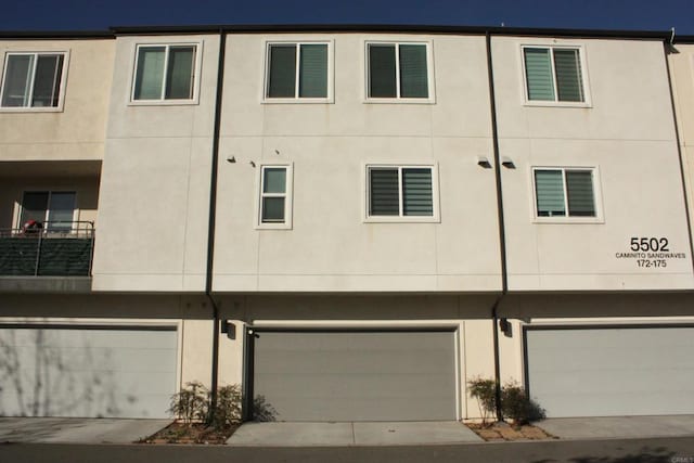
[[[523, 44], [580, 47], [588, 107], [524, 102]], [[511, 291], [694, 287], [663, 43], [494, 37], [494, 86]], [[593, 223], [534, 218], [532, 167], [594, 167]], [[631, 237], [665, 237], [666, 267], [639, 267]], [[682, 257], [682, 256], [680, 256]]]

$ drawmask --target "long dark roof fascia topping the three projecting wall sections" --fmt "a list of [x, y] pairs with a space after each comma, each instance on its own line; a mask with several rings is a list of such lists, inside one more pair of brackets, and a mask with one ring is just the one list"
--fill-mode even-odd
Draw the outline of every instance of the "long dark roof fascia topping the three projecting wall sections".
[[326, 24], [326, 25], [209, 25], [209, 26], [138, 26], [112, 27], [118, 35], [185, 35], [185, 34], [291, 34], [291, 33], [398, 33], [398, 34], [449, 34], [518, 37], [567, 37], [606, 38], [633, 40], [669, 40], [670, 30], [595, 30], [595, 29], [545, 29], [525, 27], [484, 26], [423, 26], [383, 24]]

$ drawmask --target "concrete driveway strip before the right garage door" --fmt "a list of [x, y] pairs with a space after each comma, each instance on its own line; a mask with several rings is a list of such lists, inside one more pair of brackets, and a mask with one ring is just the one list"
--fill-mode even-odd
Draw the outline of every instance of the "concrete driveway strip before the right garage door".
[[694, 415], [555, 417], [534, 424], [560, 439], [694, 436]]

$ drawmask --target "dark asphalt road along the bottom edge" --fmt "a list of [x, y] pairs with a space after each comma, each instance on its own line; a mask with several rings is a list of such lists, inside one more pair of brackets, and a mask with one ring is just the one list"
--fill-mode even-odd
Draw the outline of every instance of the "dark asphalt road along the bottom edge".
[[489, 442], [460, 446], [235, 448], [153, 445], [0, 445], [0, 462], [571, 462], [694, 463], [694, 437]]

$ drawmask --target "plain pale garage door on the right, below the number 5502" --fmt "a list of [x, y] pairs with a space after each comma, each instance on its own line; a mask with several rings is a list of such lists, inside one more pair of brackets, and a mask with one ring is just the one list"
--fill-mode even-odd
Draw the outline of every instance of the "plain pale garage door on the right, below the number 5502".
[[694, 327], [530, 329], [526, 343], [548, 416], [694, 413]]

